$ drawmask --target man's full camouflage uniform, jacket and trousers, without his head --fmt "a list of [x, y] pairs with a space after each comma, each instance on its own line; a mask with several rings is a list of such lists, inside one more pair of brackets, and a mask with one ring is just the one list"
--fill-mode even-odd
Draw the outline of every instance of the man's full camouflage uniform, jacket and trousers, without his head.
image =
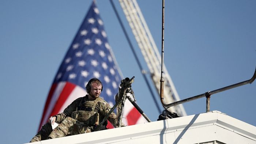
[[[87, 107], [87, 103], [93, 101], [88, 100], [88, 95], [76, 99], [64, 110], [63, 113], [55, 115], [57, 117], [55, 122], [59, 123], [59, 125], [54, 130], [51, 130], [52, 126], [47, 123], [42, 126], [42, 129], [30, 142], [45, 140], [47, 137], [48, 139], [64, 137], [68, 133], [75, 135], [93, 131], [94, 124], [101, 122], [111, 109], [110, 105], [102, 98], [97, 98], [94, 101], [97, 101], [97, 103], [95, 102], [95, 109], [93, 108], [94, 110], [91, 110], [91, 115], [88, 116], [83, 115], [83, 112], [86, 111], [87, 113], [85, 114], [88, 114], [90, 107]], [[78, 109], [79, 112], [78, 120], [71, 118], [72, 112], [76, 111], [76, 109]], [[84, 117], [89, 119], [84, 119]], [[114, 125], [114, 127], [117, 127], [117, 116], [115, 113], [112, 112], [109, 115], [108, 120]]]

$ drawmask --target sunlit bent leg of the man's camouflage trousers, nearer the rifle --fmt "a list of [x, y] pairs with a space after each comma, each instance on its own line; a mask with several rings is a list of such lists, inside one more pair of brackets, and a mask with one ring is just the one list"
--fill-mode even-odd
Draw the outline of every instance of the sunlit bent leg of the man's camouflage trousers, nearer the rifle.
[[64, 137], [68, 133], [71, 135], [89, 133], [91, 129], [87, 128], [83, 123], [71, 118], [66, 117], [53, 131], [49, 134], [49, 139]]

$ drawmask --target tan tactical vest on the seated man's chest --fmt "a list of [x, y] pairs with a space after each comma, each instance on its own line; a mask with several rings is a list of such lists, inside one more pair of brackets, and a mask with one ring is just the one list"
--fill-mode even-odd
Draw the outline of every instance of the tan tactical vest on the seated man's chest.
[[85, 103], [79, 104], [78, 111], [72, 112], [71, 117], [88, 126], [98, 125], [99, 113], [95, 112], [95, 106], [102, 100], [102, 98], [96, 98], [94, 101], [85, 101]]

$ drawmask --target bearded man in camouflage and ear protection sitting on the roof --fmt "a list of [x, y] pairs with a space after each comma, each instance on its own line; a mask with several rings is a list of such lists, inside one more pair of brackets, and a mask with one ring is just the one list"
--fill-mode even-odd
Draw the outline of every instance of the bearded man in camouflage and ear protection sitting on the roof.
[[[110, 105], [99, 97], [102, 90], [101, 81], [96, 78], [89, 80], [86, 85], [88, 95], [76, 99], [63, 113], [52, 117], [52, 123], [59, 123], [56, 128], [52, 129], [51, 119], [49, 118], [48, 123], [42, 126], [30, 142], [93, 132], [95, 126], [103, 120], [111, 109]], [[115, 113], [112, 112], [108, 120], [114, 127], [117, 127]], [[103, 124], [101, 130], [106, 129], [106, 124], [107, 122]]]

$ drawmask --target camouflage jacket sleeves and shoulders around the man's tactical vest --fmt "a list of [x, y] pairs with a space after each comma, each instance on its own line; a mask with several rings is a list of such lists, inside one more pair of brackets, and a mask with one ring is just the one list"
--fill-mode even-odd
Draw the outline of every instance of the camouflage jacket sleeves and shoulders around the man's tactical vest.
[[[88, 95], [84, 97], [80, 97], [75, 101], [73, 101], [66, 109], [64, 109], [63, 113], [55, 115], [57, 117], [56, 122], [61, 123], [66, 117], [71, 117], [71, 113], [73, 111], [76, 111], [76, 108], [81, 106], [86, 101], [89, 101]], [[96, 104], [94, 111], [99, 113], [100, 122], [103, 120], [105, 115], [109, 113], [110, 109], [111, 109], [110, 105], [103, 99]], [[109, 115], [108, 120], [109, 122], [111, 122], [111, 124], [114, 125], [114, 127], [117, 127], [117, 116], [115, 113], [112, 112]]]

